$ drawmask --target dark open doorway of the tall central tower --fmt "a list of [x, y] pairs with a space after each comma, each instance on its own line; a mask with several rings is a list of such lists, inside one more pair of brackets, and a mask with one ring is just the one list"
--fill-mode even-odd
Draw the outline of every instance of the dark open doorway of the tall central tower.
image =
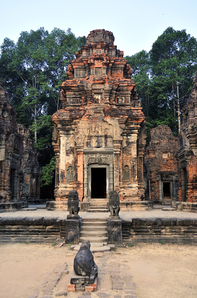
[[91, 168], [91, 198], [107, 198], [106, 168]]

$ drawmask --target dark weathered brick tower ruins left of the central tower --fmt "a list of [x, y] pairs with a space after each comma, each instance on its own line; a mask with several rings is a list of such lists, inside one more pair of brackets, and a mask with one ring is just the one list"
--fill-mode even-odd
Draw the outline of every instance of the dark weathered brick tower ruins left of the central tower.
[[38, 200], [40, 175], [30, 133], [16, 122], [0, 77], [0, 203]]

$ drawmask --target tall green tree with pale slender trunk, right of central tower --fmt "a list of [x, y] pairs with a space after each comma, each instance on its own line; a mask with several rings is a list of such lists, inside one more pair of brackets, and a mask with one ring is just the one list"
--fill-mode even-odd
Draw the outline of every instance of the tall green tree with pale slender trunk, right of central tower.
[[[185, 103], [192, 86], [192, 77], [197, 65], [197, 41], [186, 30], [168, 27], [153, 43], [151, 49], [152, 74], [165, 86], [166, 94], [178, 109], [180, 121], [180, 100]], [[177, 102], [177, 105], [175, 104]]]

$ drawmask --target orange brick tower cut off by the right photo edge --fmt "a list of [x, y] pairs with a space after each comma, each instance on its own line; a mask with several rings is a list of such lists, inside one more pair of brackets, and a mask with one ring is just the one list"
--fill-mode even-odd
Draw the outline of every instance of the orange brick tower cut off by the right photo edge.
[[183, 123], [179, 134], [182, 201], [197, 201], [197, 73], [190, 97], [182, 110]]

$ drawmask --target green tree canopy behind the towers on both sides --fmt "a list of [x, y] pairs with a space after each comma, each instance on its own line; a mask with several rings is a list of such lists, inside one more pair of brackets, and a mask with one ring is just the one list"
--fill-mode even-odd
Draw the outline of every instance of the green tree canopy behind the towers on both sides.
[[[61, 108], [61, 84], [75, 52], [86, 37], [75, 37], [54, 28], [23, 31], [14, 43], [5, 38], [1, 45], [0, 73], [18, 113], [18, 122], [30, 128], [43, 169], [41, 185], [54, 178], [52, 114]], [[197, 41], [186, 30], [168, 27], [153, 43], [150, 52], [142, 50], [125, 57], [133, 69], [139, 99], [146, 117], [147, 140], [150, 128], [170, 126], [174, 134], [180, 126], [180, 108], [186, 103], [197, 69]], [[179, 121], [178, 121], [179, 119]]]

